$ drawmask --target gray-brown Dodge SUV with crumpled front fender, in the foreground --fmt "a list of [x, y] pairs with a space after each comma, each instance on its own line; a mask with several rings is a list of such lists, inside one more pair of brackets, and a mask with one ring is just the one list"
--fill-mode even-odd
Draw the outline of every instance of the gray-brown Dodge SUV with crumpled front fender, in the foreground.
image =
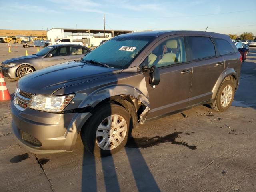
[[86, 54], [22, 77], [11, 102], [12, 130], [34, 153], [84, 147], [107, 156], [146, 120], [210, 104], [227, 110], [242, 56], [227, 35], [152, 31], [116, 36]]

